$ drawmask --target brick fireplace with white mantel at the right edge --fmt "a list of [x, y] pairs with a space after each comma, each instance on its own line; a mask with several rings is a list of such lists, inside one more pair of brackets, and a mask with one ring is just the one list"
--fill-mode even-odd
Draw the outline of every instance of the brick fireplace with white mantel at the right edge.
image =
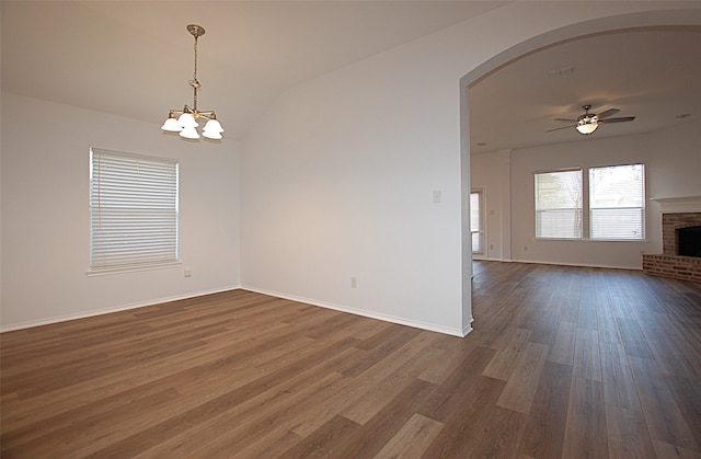
[[653, 276], [701, 283], [701, 257], [678, 253], [677, 230], [701, 226], [701, 197], [653, 199], [662, 211], [662, 254], [643, 254], [643, 272]]

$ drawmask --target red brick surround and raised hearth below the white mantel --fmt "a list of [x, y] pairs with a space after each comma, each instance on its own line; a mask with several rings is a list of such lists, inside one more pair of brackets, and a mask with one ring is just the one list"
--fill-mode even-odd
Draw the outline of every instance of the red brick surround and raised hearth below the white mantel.
[[663, 208], [663, 253], [643, 254], [643, 272], [653, 276], [701, 283], [701, 257], [677, 255], [676, 230], [696, 226], [701, 226], [701, 213], [666, 213]]

